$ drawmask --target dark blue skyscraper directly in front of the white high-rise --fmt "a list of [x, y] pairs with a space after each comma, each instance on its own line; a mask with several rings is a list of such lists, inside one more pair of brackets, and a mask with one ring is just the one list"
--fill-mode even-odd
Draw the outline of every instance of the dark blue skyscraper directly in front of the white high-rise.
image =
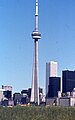
[[60, 91], [60, 77], [49, 77], [48, 98], [57, 97]]

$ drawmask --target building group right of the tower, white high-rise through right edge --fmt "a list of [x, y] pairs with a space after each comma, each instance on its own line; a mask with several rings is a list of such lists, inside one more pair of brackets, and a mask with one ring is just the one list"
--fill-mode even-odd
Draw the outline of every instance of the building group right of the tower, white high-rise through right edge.
[[57, 62], [46, 63], [46, 105], [75, 106], [75, 71], [57, 76]]

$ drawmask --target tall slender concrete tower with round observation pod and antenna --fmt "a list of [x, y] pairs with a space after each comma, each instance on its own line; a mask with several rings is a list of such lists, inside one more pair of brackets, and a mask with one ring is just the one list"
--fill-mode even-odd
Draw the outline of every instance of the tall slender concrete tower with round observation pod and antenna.
[[35, 29], [32, 32], [32, 38], [34, 39], [34, 62], [33, 62], [33, 75], [32, 75], [32, 91], [31, 102], [39, 105], [39, 80], [38, 80], [38, 40], [41, 38], [41, 34], [38, 30], [38, 0], [36, 0], [36, 12], [35, 12]]

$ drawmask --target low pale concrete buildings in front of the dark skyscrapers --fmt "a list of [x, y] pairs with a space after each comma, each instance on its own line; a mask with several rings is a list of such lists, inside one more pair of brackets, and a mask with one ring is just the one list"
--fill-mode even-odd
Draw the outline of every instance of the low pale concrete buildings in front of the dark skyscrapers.
[[75, 106], [75, 89], [72, 92], [67, 92], [62, 94], [58, 92], [58, 97], [48, 98], [46, 100], [46, 105], [56, 105], [56, 106]]

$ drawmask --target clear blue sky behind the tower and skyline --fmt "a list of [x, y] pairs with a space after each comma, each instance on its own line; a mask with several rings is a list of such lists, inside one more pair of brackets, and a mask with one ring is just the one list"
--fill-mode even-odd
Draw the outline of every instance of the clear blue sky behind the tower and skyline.
[[[31, 87], [35, 0], [0, 0], [0, 86]], [[39, 82], [46, 62], [58, 62], [58, 76], [75, 70], [75, 0], [39, 0]]]

